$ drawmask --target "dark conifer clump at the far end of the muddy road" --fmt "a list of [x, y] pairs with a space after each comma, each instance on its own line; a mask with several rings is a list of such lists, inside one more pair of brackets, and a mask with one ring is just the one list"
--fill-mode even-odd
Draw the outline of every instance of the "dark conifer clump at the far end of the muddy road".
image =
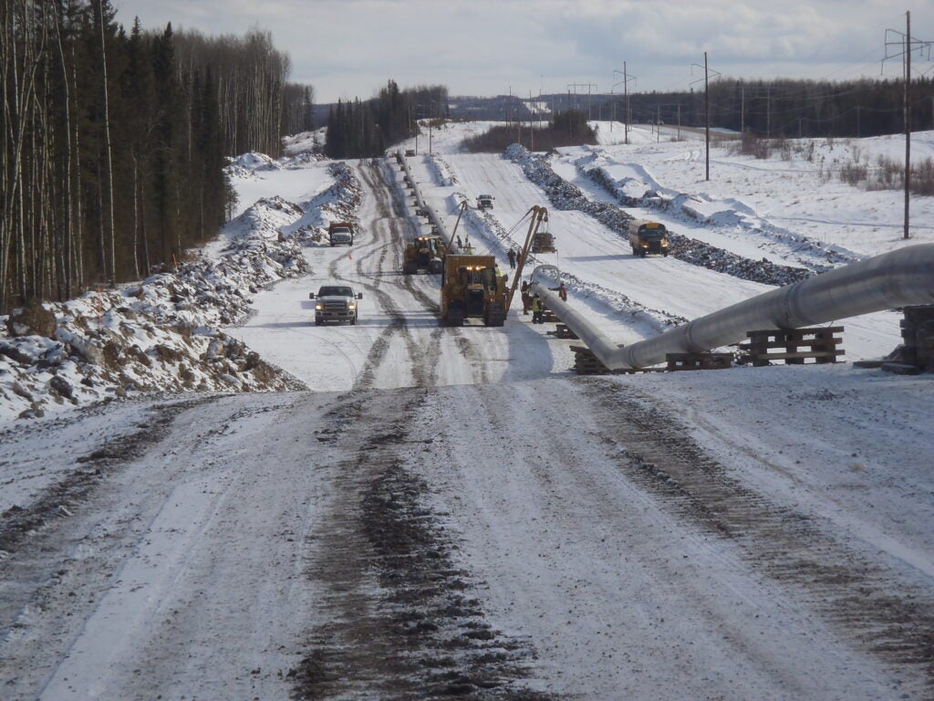
[[332, 158], [372, 158], [415, 136], [418, 120], [447, 114], [447, 88], [400, 90], [394, 80], [370, 100], [338, 100], [328, 115], [324, 152]]

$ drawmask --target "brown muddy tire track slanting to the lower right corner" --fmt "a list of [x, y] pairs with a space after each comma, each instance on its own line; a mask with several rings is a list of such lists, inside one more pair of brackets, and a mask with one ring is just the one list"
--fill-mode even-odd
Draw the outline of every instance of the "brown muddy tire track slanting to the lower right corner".
[[650, 397], [599, 380], [586, 388], [605, 412], [603, 439], [627, 477], [681, 518], [737, 544], [750, 565], [794, 590], [856, 647], [898, 669], [903, 698], [934, 697], [929, 588], [743, 486]]

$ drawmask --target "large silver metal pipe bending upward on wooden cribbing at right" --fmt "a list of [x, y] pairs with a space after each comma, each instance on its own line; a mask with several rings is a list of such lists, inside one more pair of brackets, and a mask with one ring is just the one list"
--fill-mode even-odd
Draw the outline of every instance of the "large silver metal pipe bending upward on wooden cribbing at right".
[[[548, 269], [551, 268], [551, 269]], [[745, 340], [748, 331], [796, 329], [910, 305], [934, 304], [934, 244], [909, 246], [844, 265], [715, 311], [620, 348], [559, 299], [557, 268], [532, 273], [532, 293], [611, 370], [665, 362], [668, 353], [704, 352]]]

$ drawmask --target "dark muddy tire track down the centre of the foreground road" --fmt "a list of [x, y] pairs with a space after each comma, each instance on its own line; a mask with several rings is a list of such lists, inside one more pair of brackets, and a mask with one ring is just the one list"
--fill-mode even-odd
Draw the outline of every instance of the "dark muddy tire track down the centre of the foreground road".
[[426, 506], [428, 484], [406, 453], [431, 450], [407, 433], [426, 392], [348, 393], [330, 435], [352, 450], [334, 465], [327, 527], [312, 533], [306, 575], [323, 588], [326, 623], [290, 670], [294, 699], [380, 698], [547, 701], [523, 680], [534, 651], [493, 629], [457, 544]]

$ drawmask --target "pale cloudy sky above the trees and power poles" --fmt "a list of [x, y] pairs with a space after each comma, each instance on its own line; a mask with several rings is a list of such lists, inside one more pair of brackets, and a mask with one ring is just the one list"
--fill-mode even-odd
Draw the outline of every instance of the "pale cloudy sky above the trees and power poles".
[[[290, 79], [316, 102], [372, 96], [387, 79], [445, 84], [451, 95], [684, 90], [704, 51], [724, 78], [898, 78], [882, 63], [886, 30], [934, 40], [934, 0], [112, 0], [117, 20], [148, 29], [272, 33]], [[897, 47], [889, 48], [898, 53]], [[934, 57], [932, 57], [934, 58]], [[915, 53], [916, 75], [934, 72]], [[884, 71], [884, 73], [881, 73]], [[713, 74], [712, 74], [713, 75]], [[587, 87], [576, 88], [586, 93]]]

